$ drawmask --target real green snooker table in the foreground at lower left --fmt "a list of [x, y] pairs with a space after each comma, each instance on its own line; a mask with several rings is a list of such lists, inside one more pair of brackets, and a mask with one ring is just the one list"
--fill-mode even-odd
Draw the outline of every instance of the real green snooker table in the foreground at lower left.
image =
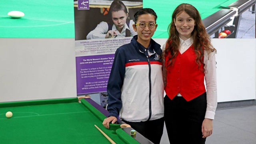
[[[6, 118], [6, 112], [13, 116]], [[61, 98], [0, 103], [0, 141], [3, 144], [110, 144], [98, 126], [116, 144], [152, 144], [132, 128], [102, 122], [107, 111], [90, 98]]]

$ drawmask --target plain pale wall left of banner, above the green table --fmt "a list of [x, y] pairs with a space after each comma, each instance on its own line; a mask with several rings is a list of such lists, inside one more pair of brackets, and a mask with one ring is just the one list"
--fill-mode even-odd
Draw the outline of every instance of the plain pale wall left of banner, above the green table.
[[0, 102], [76, 97], [74, 38], [0, 38]]

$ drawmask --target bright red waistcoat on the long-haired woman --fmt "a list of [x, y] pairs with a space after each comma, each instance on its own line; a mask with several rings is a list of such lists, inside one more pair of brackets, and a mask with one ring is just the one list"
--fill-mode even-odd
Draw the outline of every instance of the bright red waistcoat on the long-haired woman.
[[[170, 52], [168, 53], [168, 55]], [[164, 90], [172, 100], [180, 93], [185, 100], [190, 101], [204, 92], [204, 72], [203, 65], [200, 69], [196, 64], [196, 53], [194, 47], [190, 46], [183, 54], [178, 52], [173, 66], [167, 67], [168, 56], [165, 56], [165, 66], [167, 69], [167, 83]]]

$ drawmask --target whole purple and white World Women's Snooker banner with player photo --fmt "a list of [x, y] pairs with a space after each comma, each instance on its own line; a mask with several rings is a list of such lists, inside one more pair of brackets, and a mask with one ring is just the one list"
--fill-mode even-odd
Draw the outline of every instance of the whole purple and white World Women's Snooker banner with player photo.
[[74, 1], [77, 94], [106, 92], [114, 53], [137, 35], [142, 0]]

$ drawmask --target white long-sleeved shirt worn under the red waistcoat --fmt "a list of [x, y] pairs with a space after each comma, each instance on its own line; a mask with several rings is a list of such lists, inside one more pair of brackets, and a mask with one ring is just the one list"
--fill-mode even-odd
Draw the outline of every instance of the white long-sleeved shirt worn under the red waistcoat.
[[[182, 40], [180, 38], [180, 54], [184, 53], [188, 48], [193, 44], [193, 38], [189, 38], [187, 40]], [[162, 48], [165, 49], [165, 44]], [[209, 118], [214, 120], [215, 111], [217, 107], [217, 78], [216, 78], [216, 59], [215, 59], [215, 52], [211, 52], [209, 54], [208, 60], [208, 53], [204, 51], [204, 78], [206, 84], [206, 100], [207, 100], [207, 108], [205, 118]], [[164, 66], [164, 64], [163, 64]], [[164, 76], [164, 86], [166, 85], [166, 69], [163, 69], [163, 76]], [[181, 96], [178, 94], [178, 96]]]

